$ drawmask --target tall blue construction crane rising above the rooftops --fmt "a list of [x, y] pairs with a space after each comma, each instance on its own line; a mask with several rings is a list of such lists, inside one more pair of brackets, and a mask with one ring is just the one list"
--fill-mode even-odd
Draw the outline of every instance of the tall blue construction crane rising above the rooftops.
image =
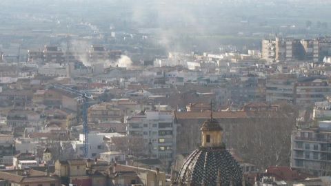
[[61, 85], [59, 83], [53, 83], [52, 87], [57, 88], [59, 90], [63, 90], [70, 94], [77, 95], [78, 99], [83, 100], [83, 109], [82, 109], [82, 121], [83, 121], [83, 134], [84, 134], [84, 157], [88, 158], [88, 99], [93, 99], [91, 95], [89, 95], [86, 91], [74, 90], [70, 87], [66, 87], [65, 85]]

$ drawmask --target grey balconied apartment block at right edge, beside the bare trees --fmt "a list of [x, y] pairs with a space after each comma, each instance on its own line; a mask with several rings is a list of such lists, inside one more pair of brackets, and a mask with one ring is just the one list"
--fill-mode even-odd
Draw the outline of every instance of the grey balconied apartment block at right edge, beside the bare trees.
[[331, 124], [294, 130], [292, 133], [291, 167], [315, 176], [331, 175]]

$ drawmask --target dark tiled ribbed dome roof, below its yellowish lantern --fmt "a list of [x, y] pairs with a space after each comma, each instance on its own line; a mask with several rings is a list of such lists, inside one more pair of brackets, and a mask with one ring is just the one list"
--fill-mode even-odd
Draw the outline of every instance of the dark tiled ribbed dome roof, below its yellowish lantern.
[[241, 185], [241, 168], [225, 147], [200, 147], [188, 156], [176, 182], [216, 186], [218, 175], [221, 185]]

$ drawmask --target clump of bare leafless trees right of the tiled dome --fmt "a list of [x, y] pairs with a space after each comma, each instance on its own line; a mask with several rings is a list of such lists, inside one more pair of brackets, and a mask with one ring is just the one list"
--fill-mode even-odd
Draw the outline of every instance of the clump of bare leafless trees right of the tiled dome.
[[257, 119], [239, 126], [231, 137], [231, 147], [249, 163], [265, 169], [271, 165], [290, 164], [291, 134], [296, 114], [283, 105], [277, 112], [259, 112]]

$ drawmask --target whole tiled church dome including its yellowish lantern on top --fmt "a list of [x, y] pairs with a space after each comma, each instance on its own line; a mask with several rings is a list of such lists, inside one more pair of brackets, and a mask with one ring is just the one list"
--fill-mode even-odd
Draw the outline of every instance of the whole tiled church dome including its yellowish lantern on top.
[[245, 185], [239, 163], [225, 149], [223, 129], [212, 116], [201, 127], [201, 146], [183, 163], [172, 185]]

